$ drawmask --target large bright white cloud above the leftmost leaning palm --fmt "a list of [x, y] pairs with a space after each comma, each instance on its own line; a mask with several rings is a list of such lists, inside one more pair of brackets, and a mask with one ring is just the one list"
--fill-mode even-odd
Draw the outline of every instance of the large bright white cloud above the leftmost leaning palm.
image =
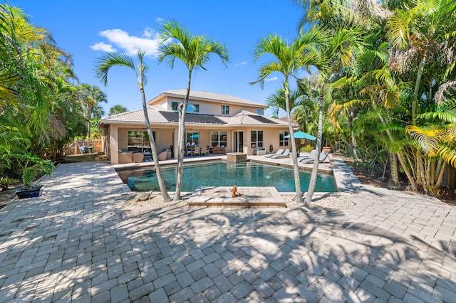
[[[145, 28], [141, 37], [130, 36], [130, 34], [126, 31], [122, 31], [121, 29], [108, 29], [106, 31], [100, 31], [98, 35], [107, 38], [110, 43], [120, 48], [128, 55], [135, 55], [138, 53], [138, 49], [145, 50], [145, 55], [150, 57], [157, 55], [158, 37], [157, 33], [155, 33], [152, 28]], [[98, 48], [95, 48], [95, 46]], [[100, 46], [110, 46], [110, 44], [102, 42], [90, 47], [93, 50], [103, 50]]]

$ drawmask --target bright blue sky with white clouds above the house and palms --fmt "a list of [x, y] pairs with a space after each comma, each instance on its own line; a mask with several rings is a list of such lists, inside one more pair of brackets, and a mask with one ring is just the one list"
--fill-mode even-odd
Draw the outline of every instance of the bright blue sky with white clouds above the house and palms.
[[[250, 85], [257, 80], [261, 63], [252, 50], [260, 38], [277, 34], [293, 41], [302, 11], [287, 0], [9, 0], [28, 15], [29, 21], [46, 28], [57, 46], [73, 56], [73, 69], [80, 83], [96, 85], [108, 95], [102, 103], [105, 115], [110, 107], [123, 105], [128, 110], [142, 108], [135, 73], [128, 68], [111, 68], [108, 86], [95, 78], [95, 62], [107, 51], [121, 51], [133, 58], [138, 48], [146, 51], [149, 65], [146, 100], [165, 90], [185, 89], [188, 70], [180, 61], [173, 69], [157, 61], [157, 35], [160, 24], [174, 19], [194, 35], [205, 35], [227, 48], [229, 63], [212, 55], [204, 67], [194, 71], [191, 89], [232, 95], [265, 103], [266, 97], [284, 80], [273, 73], [264, 87]], [[135, 61], [137, 62], [137, 61]], [[266, 110], [271, 116], [271, 110]], [[281, 115], [282, 116], [282, 115]]]

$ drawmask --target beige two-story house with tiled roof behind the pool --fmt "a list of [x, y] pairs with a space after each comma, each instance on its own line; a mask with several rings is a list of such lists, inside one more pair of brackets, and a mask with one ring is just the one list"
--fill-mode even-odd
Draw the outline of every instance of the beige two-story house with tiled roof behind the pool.
[[[172, 149], [177, 158], [177, 106], [185, 99], [186, 90], [162, 92], [148, 102], [147, 112], [157, 151]], [[111, 164], [118, 164], [119, 151], [150, 150], [144, 114], [133, 110], [104, 117], [103, 145]], [[212, 92], [190, 92], [185, 115], [185, 143], [201, 147], [222, 147], [224, 152], [255, 154], [257, 148], [276, 151], [289, 148], [288, 124], [264, 116], [264, 105], [249, 100]], [[218, 151], [220, 149], [217, 149]]]

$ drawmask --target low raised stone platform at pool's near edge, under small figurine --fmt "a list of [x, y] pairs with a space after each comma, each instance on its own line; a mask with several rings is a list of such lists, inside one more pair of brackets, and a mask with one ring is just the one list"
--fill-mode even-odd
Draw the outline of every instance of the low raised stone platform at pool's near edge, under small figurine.
[[207, 207], [286, 207], [284, 199], [275, 187], [247, 187], [239, 186], [237, 191], [242, 196], [232, 197], [232, 187], [228, 186], [201, 186], [190, 195], [189, 206]]

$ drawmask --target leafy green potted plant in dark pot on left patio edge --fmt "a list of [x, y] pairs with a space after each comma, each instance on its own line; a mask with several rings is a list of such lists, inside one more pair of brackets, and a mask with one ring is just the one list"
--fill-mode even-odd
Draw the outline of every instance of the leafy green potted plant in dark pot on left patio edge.
[[32, 198], [41, 196], [43, 185], [33, 184], [39, 176], [46, 174], [51, 176], [54, 165], [51, 160], [43, 160], [38, 156], [27, 152], [26, 154], [15, 154], [14, 158], [21, 167], [23, 186], [16, 191], [18, 198]]

